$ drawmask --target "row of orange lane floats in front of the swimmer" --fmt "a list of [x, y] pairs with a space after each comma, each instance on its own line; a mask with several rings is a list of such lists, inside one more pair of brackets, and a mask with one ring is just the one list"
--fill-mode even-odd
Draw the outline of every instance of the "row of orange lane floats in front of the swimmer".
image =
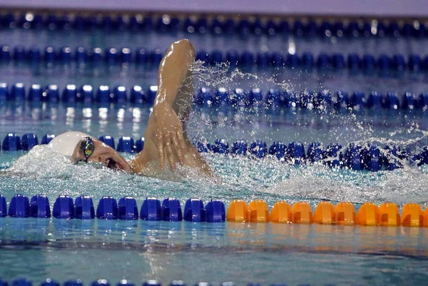
[[364, 225], [386, 227], [428, 228], [428, 208], [422, 211], [417, 203], [407, 203], [399, 213], [395, 203], [363, 203], [358, 212], [355, 205], [349, 202], [320, 202], [312, 213], [306, 201], [294, 203], [292, 206], [285, 201], [276, 202], [272, 210], [264, 200], [253, 200], [249, 205], [243, 200], [233, 200], [228, 208], [226, 218], [230, 222], [250, 223], [295, 223], [325, 225]]

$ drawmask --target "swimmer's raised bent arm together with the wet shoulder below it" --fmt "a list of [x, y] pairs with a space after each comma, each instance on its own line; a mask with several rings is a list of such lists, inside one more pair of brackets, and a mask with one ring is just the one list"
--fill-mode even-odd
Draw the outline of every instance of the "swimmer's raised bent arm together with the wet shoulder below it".
[[131, 160], [134, 173], [163, 177], [168, 167], [185, 165], [215, 177], [213, 171], [190, 142], [186, 121], [193, 102], [190, 67], [195, 49], [188, 40], [174, 42], [159, 66], [158, 93], [148, 118], [143, 151]]

